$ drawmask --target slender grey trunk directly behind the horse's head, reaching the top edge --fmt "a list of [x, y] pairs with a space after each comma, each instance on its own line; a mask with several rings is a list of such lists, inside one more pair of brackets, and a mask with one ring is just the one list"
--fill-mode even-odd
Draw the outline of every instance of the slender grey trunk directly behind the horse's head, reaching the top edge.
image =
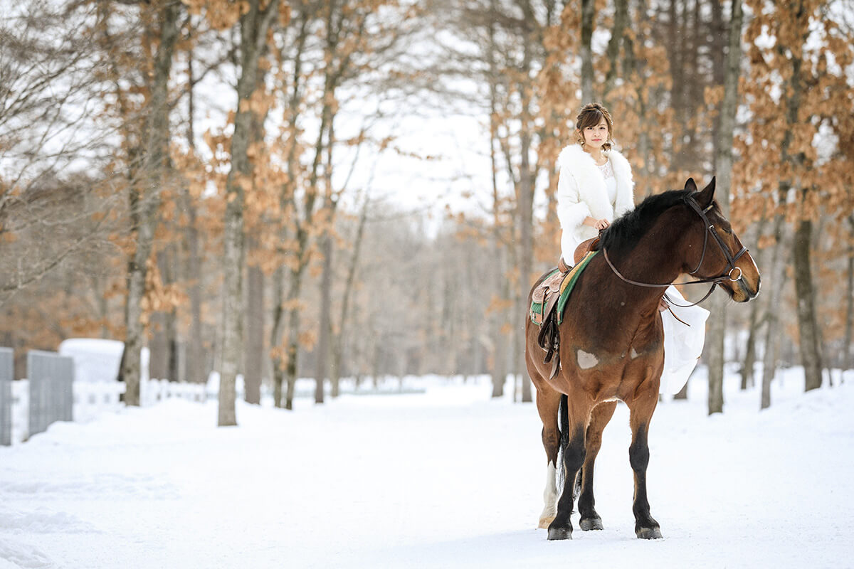
[[[717, 186], [715, 200], [725, 217], [729, 217], [729, 194], [733, 179], [733, 131], [738, 102], [739, 71], [741, 61], [741, 0], [732, 2], [732, 20], [729, 26], [729, 45], [723, 80], [723, 101], [720, 113], [721, 144], [715, 156]], [[723, 293], [712, 298], [709, 316], [709, 415], [723, 412], [724, 335], [726, 333], [727, 299]]]

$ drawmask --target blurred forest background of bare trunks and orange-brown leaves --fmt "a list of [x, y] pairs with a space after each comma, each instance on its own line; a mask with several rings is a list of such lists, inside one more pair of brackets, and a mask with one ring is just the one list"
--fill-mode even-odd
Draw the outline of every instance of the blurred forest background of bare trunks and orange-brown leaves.
[[[711, 300], [709, 412], [852, 366], [851, 0], [0, 0], [0, 345], [126, 343], [290, 409], [404, 374], [516, 374], [584, 102], [636, 200], [717, 176], [763, 273]], [[693, 293], [693, 292], [692, 292]], [[763, 366], [755, 366], [757, 362]], [[762, 370], [754, 377], [754, 369]], [[23, 365], [18, 374], [26, 374]], [[823, 379], [822, 379], [823, 378]], [[325, 386], [325, 388], [324, 388]]]

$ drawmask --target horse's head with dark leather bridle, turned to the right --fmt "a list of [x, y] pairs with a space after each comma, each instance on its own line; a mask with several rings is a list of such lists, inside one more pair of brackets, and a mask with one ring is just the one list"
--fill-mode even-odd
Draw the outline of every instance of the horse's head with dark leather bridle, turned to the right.
[[685, 189], [692, 191], [687, 202], [694, 210], [692, 215], [697, 217], [697, 223], [693, 225], [696, 229], [691, 230], [689, 237], [692, 240], [691, 250], [696, 253], [686, 260], [685, 272], [701, 278], [728, 276], [719, 284], [733, 300], [747, 302], [756, 298], [759, 270], [717, 206], [715, 178], [711, 178], [702, 190], [697, 189], [693, 178], [688, 178]]

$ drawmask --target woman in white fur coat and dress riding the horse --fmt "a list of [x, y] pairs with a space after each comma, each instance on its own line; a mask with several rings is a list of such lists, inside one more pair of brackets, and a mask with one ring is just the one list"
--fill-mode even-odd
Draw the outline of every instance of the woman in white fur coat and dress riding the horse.
[[[564, 148], [558, 157], [558, 219], [563, 231], [560, 254], [566, 266], [582, 241], [599, 235], [615, 218], [635, 207], [632, 168], [623, 154], [613, 149], [611, 114], [599, 103], [588, 103], [576, 117], [577, 143]], [[676, 287], [667, 296], [685, 305]], [[664, 310], [664, 308], [663, 308]], [[664, 324], [664, 373], [661, 392], [676, 393], [697, 365], [705, 340], [709, 316], [699, 306], [671, 307], [662, 312]]]

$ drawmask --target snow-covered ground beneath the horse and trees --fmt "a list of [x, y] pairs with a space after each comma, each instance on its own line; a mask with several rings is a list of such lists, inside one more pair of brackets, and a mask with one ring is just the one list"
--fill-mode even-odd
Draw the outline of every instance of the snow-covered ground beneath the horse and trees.
[[789, 370], [762, 413], [729, 377], [711, 418], [703, 383], [653, 418], [662, 540], [635, 538], [625, 406], [597, 463], [605, 530], [548, 542], [534, 405], [423, 378], [293, 413], [241, 404], [231, 428], [215, 402], [170, 400], [0, 448], [0, 569], [854, 565], [854, 377], [804, 394]]

